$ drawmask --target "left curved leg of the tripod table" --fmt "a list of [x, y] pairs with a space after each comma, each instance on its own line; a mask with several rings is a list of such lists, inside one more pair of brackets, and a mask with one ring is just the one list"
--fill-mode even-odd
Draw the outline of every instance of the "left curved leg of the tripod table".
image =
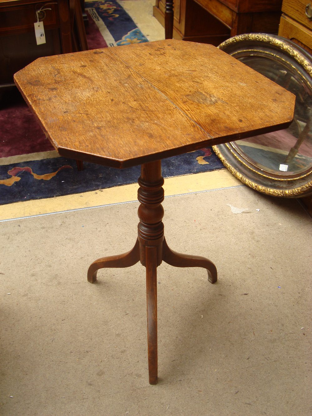
[[139, 240], [136, 240], [134, 248], [127, 253], [103, 257], [95, 260], [88, 269], [88, 282], [97, 280], [97, 271], [106, 267], [130, 267], [140, 260]]

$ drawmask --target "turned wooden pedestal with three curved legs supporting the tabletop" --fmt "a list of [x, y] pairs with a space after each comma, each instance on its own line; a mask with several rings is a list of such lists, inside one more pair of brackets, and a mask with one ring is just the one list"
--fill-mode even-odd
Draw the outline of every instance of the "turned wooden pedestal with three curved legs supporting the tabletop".
[[203, 267], [210, 283], [217, 281], [217, 269], [210, 260], [171, 250], [163, 235], [163, 178], [161, 161], [141, 166], [138, 199], [138, 238], [127, 253], [95, 260], [88, 270], [88, 281], [97, 280], [97, 271], [106, 267], [130, 267], [141, 262], [146, 267], [147, 346], [149, 383], [157, 384], [157, 267], [162, 261], [175, 267]]

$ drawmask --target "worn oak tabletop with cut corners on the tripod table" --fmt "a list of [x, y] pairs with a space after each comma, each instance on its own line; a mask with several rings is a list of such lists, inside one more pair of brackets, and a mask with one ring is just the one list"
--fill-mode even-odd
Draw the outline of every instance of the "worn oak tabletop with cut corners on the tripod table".
[[212, 45], [42, 57], [15, 83], [61, 156], [124, 168], [287, 127], [295, 96]]

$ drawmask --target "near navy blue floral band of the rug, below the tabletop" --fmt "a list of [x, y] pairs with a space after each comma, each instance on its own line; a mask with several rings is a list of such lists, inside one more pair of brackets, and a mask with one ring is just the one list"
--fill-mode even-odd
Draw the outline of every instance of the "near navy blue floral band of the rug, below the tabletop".
[[[205, 156], [205, 154], [208, 156]], [[210, 154], [210, 156], [209, 156]], [[199, 164], [206, 161], [207, 164]], [[224, 168], [211, 150], [203, 149], [163, 159], [163, 177], [187, 175]], [[136, 183], [140, 166], [114, 169], [84, 162], [78, 171], [76, 162], [63, 157], [0, 166], [0, 204], [51, 198]]]

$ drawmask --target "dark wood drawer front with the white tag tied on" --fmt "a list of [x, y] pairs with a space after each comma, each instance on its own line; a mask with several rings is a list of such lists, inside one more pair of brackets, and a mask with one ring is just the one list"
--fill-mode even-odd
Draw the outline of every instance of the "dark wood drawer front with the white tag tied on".
[[[46, 2], [37, 2], [14, 7], [0, 8], [0, 35], [12, 35], [34, 30], [34, 23], [37, 21], [36, 10], [44, 6]], [[58, 24], [56, 5], [49, 4], [51, 10], [45, 10], [43, 21], [45, 28], [56, 27]], [[36, 9], [37, 7], [37, 9]]]

